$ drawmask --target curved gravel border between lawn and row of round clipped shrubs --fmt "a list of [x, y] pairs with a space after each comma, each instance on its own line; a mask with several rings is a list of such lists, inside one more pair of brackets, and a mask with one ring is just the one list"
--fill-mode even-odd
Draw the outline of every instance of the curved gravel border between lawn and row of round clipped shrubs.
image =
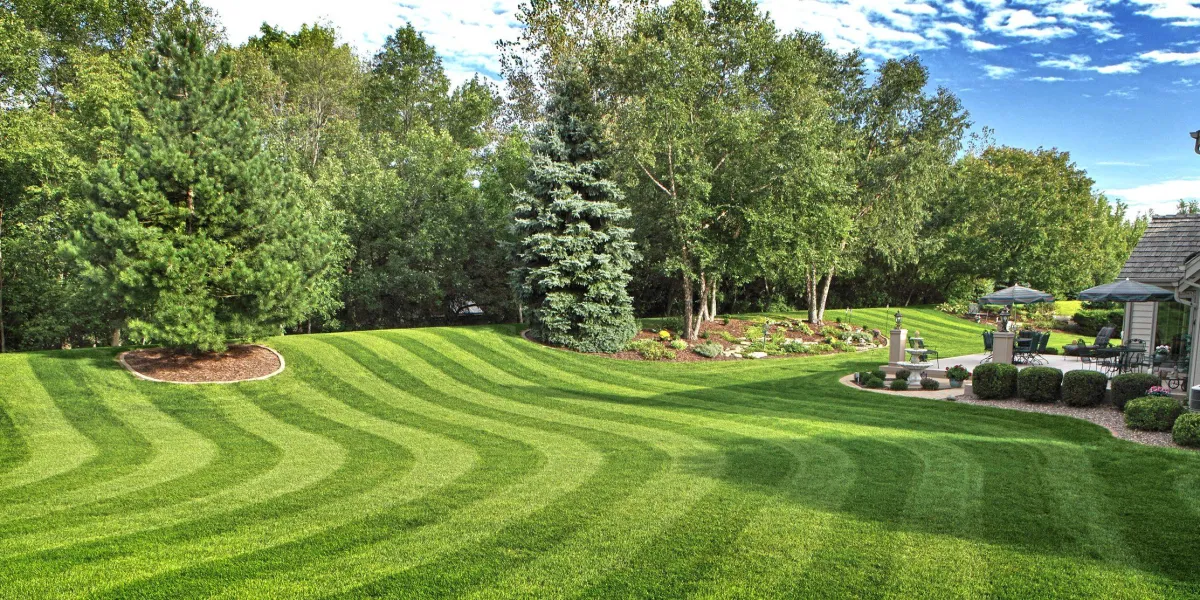
[[973, 395], [966, 394], [962, 389], [950, 389], [943, 388], [937, 391], [892, 391], [892, 390], [872, 390], [870, 388], [860, 388], [854, 383], [853, 373], [839, 379], [842, 385], [853, 388], [860, 391], [871, 391], [875, 394], [889, 394], [893, 396], [907, 396], [912, 398], [926, 398], [926, 400], [944, 400], [950, 402], [958, 402], [960, 404], [976, 404], [992, 408], [1007, 408], [1009, 410], [1021, 410], [1025, 413], [1042, 413], [1052, 414], [1060, 416], [1070, 416], [1074, 419], [1080, 419], [1088, 421], [1112, 433], [1112, 437], [1127, 439], [1129, 442], [1136, 442], [1139, 444], [1151, 445], [1151, 446], [1163, 446], [1163, 448], [1177, 448], [1180, 450], [1193, 450], [1194, 448], [1181, 446], [1171, 439], [1171, 432], [1169, 431], [1140, 431], [1130, 430], [1126, 427], [1124, 415], [1118, 413], [1112, 404], [1100, 404], [1097, 407], [1068, 407], [1061, 403], [1054, 404], [1042, 404], [1034, 402], [1025, 402], [1024, 400], [1010, 398], [1010, 400], [979, 400]]

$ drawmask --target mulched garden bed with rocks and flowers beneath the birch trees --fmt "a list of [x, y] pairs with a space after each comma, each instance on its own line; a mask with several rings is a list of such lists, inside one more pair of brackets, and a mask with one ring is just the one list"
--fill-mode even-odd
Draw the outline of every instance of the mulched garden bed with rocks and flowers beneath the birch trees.
[[679, 329], [643, 328], [623, 352], [601, 355], [692, 362], [836, 354], [887, 346], [880, 330], [844, 323], [814, 326], [799, 319], [721, 318], [701, 325], [697, 340], [683, 340]]

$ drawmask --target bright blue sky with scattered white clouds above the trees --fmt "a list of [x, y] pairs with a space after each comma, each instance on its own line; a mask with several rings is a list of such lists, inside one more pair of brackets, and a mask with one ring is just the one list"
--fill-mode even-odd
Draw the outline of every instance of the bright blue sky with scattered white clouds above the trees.
[[[520, 0], [212, 0], [238, 43], [268, 20], [336, 24], [373, 53], [412, 22], [455, 80], [498, 77]], [[918, 54], [1003, 144], [1058, 148], [1133, 212], [1200, 198], [1200, 0], [760, 0], [782, 30], [872, 60]]]

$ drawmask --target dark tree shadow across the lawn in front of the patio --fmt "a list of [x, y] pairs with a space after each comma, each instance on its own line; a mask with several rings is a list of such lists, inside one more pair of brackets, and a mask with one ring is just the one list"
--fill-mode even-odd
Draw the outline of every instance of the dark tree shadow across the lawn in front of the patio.
[[[1190, 452], [1118, 440], [1096, 425], [1054, 415], [851, 389], [804, 400], [772, 391], [815, 390], [809, 382], [821, 378], [648, 398], [590, 396], [779, 430], [772, 439], [722, 445], [728, 467], [720, 479], [754, 493], [894, 530], [1200, 583], [1193, 558], [1200, 518], [1190, 496], [1200, 492], [1200, 460]], [[695, 463], [710, 460], [697, 456]]]

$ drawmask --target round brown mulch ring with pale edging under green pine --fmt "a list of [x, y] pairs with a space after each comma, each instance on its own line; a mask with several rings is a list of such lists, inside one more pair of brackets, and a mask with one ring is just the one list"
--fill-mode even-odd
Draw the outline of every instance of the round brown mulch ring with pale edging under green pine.
[[181, 384], [257, 382], [284, 366], [280, 353], [258, 344], [230, 346], [223, 354], [148, 348], [121, 353], [118, 360], [148, 382]]

